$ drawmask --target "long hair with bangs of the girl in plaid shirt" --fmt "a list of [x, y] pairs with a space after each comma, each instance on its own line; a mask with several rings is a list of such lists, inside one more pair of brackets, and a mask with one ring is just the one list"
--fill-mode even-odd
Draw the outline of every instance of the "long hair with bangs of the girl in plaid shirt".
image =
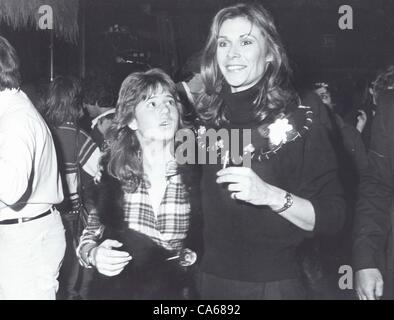
[[128, 124], [135, 117], [137, 105], [161, 90], [168, 91], [174, 97], [181, 119], [182, 107], [175, 83], [161, 69], [131, 73], [119, 91], [115, 117], [109, 130], [108, 148], [103, 159], [109, 175], [127, 186], [130, 192], [143, 179], [143, 167], [140, 143]]

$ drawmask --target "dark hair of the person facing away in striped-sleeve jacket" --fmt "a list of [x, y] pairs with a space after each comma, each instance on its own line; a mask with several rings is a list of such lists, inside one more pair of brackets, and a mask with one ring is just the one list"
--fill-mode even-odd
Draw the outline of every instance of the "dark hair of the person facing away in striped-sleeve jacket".
[[52, 126], [77, 123], [82, 116], [82, 86], [73, 76], [57, 76], [49, 84], [45, 117]]

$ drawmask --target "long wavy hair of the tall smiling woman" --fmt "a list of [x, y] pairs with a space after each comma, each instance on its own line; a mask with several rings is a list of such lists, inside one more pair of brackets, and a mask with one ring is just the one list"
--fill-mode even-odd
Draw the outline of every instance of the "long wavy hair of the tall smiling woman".
[[288, 58], [271, 14], [259, 4], [236, 4], [221, 9], [213, 18], [202, 56], [201, 75], [205, 93], [198, 99], [197, 111], [202, 120], [216, 125], [226, 121], [223, 102], [219, 97], [224, 78], [216, 59], [218, 35], [224, 21], [237, 17], [248, 19], [260, 30], [267, 44], [267, 55], [272, 56], [272, 61], [267, 63], [264, 79], [259, 82], [260, 88], [255, 100], [256, 119], [271, 118], [284, 112], [287, 106], [299, 102], [291, 85], [292, 72]]

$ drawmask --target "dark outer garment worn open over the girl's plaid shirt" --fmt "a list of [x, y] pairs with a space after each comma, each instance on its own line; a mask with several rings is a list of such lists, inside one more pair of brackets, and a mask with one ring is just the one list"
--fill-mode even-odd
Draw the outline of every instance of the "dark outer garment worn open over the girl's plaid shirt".
[[[195, 195], [193, 186], [198, 182], [195, 170], [181, 171], [190, 197]], [[197, 186], [196, 186], [197, 187]], [[129, 229], [124, 220], [124, 191], [120, 182], [104, 173], [95, 190], [95, 204], [100, 222], [105, 225], [102, 241], [118, 240], [123, 243], [119, 250], [127, 251], [132, 256], [126, 268], [114, 277], [97, 273], [93, 285], [93, 299], [183, 299], [182, 290], [192, 287], [192, 274], [185, 272], [177, 260], [166, 261], [174, 252], [156, 244], [150, 237]], [[200, 254], [201, 239], [199, 234], [200, 217], [195, 196], [191, 199], [191, 231], [185, 246]], [[193, 269], [193, 268], [192, 268]], [[191, 293], [189, 293], [191, 294]]]

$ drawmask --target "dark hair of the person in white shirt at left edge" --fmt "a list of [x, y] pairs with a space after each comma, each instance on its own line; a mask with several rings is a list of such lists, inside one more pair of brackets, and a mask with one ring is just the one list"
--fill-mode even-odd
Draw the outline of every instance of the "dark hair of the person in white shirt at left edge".
[[0, 91], [18, 89], [20, 83], [18, 55], [8, 40], [0, 36]]

